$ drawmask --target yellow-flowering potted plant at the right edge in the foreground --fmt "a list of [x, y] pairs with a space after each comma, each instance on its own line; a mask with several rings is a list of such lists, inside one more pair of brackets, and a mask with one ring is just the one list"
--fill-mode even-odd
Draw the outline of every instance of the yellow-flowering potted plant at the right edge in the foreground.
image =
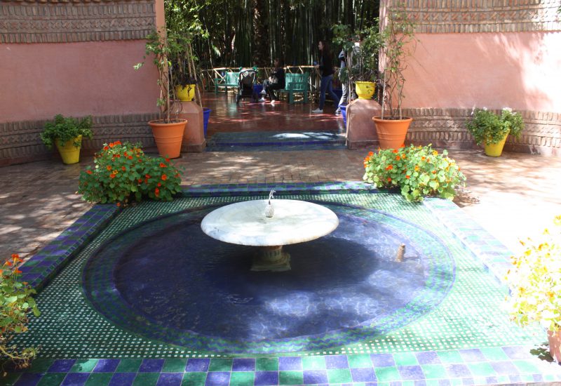
[[506, 280], [511, 292], [508, 308], [519, 326], [538, 323], [547, 330], [549, 352], [561, 361], [561, 215], [553, 220], [540, 239], [528, 243], [526, 251], [513, 257]]

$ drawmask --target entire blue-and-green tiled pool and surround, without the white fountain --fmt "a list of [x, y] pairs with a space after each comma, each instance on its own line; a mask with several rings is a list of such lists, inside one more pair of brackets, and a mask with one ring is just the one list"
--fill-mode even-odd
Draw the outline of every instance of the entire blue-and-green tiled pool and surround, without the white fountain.
[[[284, 276], [250, 272], [249, 247], [198, 233], [213, 208], [269, 189], [327, 206], [341, 224], [309, 246], [286, 246]], [[543, 332], [501, 310], [496, 276], [508, 251], [450, 201], [412, 204], [362, 182], [200, 185], [172, 202], [88, 213], [22, 269], [44, 286], [42, 315], [16, 343], [39, 347], [39, 358], [8, 385], [561, 380], [558, 364], [530, 352]], [[170, 230], [172, 245], [162, 246]], [[267, 320], [278, 323], [262, 327]]]

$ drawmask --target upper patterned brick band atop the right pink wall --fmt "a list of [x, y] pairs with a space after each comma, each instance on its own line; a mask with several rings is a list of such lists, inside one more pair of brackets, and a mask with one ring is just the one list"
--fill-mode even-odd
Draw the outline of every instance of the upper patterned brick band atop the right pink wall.
[[405, 4], [417, 33], [560, 31], [558, 0], [388, 0]]

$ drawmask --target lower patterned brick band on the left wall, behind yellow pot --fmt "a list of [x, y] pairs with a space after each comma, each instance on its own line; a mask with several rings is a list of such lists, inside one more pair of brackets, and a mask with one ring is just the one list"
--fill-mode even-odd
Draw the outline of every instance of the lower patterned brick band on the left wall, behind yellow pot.
[[[93, 154], [114, 140], [142, 142], [145, 149], [156, 146], [147, 122], [158, 114], [131, 114], [93, 117], [93, 139], [83, 140], [84, 154]], [[19, 121], [0, 124], [0, 166], [20, 164], [53, 157], [56, 150], [47, 149], [39, 134], [45, 121]]]

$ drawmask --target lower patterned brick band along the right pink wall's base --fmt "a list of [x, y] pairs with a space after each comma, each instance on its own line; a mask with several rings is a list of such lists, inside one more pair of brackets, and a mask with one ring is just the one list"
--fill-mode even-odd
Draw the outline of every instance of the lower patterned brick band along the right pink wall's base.
[[[469, 149], [475, 147], [466, 121], [471, 109], [406, 109], [413, 117], [407, 140], [419, 145]], [[521, 112], [525, 129], [519, 139], [508, 137], [505, 149], [532, 154], [561, 157], [561, 114], [553, 112]]]

